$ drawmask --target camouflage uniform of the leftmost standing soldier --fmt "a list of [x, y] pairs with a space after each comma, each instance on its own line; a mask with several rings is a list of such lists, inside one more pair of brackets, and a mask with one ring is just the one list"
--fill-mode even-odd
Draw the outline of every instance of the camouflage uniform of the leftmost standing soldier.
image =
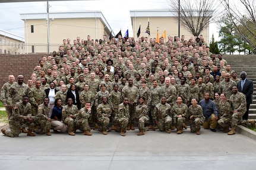
[[[17, 82], [14, 82], [14, 84], [17, 84]], [[9, 89], [11, 85], [13, 84], [10, 84], [10, 82], [7, 82], [1, 88], [1, 101], [2, 101], [2, 104], [4, 105], [7, 104]], [[11, 117], [11, 111], [12, 111], [9, 106], [10, 105], [7, 105], [7, 107], [5, 107], [5, 111], [7, 112], [8, 119]]]

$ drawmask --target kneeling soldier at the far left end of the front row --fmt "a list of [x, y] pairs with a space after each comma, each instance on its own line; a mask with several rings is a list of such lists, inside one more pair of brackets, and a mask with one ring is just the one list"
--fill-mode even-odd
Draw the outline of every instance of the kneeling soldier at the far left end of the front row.
[[22, 102], [17, 102], [17, 104], [14, 105], [14, 110], [12, 111], [12, 116], [9, 120], [10, 130], [1, 129], [1, 131], [5, 136], [18, 137], [20, 129], [24, 124], [28, 124], [29, 131], [27, 132], [27, 136], [36, 136], [32, 133], [32, 130], [34, 129], [34, 120], [35, 117], [31, 116], [29, 97], [24, 95], [22, 97]]

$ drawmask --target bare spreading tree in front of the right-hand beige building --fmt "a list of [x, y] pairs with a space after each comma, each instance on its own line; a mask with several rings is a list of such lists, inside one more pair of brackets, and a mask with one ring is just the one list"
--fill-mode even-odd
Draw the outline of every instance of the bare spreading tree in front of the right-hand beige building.
[[217, 17], [218, 3], [213, 0], [167, 0], [167, 2], [176, 15], [180, 16], [181, 25], [197, 37]]

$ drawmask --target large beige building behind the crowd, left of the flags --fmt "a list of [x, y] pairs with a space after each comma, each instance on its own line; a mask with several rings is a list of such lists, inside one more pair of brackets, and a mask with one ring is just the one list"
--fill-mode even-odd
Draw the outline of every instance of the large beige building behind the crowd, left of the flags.
[[[26, 53], [48, 52], [48, 22], [46, 13], [20, 14], [24, 21], [24, 36], [27, 44]], [[58, 50], [62, 40], [103, 39], [110, 35], [110, 25], [100, 11], [51, 12], [49, 13], [50, 52]]]

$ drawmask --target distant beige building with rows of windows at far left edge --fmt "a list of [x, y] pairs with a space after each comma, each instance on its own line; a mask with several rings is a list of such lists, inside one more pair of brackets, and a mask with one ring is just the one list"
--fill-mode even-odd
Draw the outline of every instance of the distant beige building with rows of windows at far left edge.
[[0, 54], [23, 54], [24, 37], [0, 30]]

